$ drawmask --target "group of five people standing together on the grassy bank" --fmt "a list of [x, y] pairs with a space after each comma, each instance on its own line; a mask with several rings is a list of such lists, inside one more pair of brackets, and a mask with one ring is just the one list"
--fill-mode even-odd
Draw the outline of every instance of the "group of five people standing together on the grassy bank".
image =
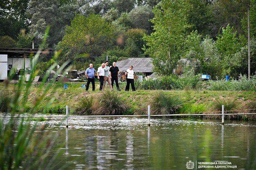
[[[95, 73], [97, 73], [97, 78], [99, 80], [99, 90], [103, 91], [106, 82], [109, 85], [110, 90], [113, 90], [113, 84], [115, 82], [118, 91], [121, 91], [118, 84], [119, 69], [116, 63], [113, 62], [113, 66], [108, 66], [108, 61], [105, 61], [98, 67], [97, 71], [93, 68], [93, 64], [89, 64], [89, 68], [85, 71], [85, 76], [87, 78], [86, 91], [89, 89], [89, 84], [92, 84], [92, 91], [95, 90]], [[130, 65], [125, 71], [126, 76], [126, 87], [125, 91], [129, 91], [129, 85], [131, 84], [132, 91], [135, 91], [134, 86], [134, 72], [133, 66]]]

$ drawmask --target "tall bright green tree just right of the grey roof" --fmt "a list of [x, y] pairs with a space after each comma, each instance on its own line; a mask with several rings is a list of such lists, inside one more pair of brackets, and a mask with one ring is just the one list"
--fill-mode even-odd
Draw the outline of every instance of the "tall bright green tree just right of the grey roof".
[[171, 74], [182, 53], [187, 28], [186, 0], [162, 0], [151, 20], [154, 32], [145, 36], [145, 54], [152, 57], [154, 70]]

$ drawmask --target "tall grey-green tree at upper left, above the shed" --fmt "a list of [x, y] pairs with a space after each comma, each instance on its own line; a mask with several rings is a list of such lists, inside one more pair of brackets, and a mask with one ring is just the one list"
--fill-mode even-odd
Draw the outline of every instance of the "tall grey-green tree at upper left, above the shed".
[[54, 47], [61, 40], [64, 28], [74, 17], [78, 6], [76, 2], [58, 0], [30, 0], [26, 13], [31, 18], [29, 34], [35, 45], [41, 44], [46, 27], [50, 26], [47, 43]]

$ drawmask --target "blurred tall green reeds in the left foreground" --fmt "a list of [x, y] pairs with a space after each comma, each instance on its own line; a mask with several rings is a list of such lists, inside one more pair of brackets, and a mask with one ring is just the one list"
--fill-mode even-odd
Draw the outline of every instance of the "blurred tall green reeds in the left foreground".
[[[46, 29], [42, 45], [45, 44], [48, 30], [49, 28]], [[63, 151], [58, 150], [52, 157], [48, 155], [53, 146], [54, 137], [52, 138], [43, 132], [45, 126], [40, 127], [39, 133], [35, 133], [37, 125], [31, 126], [30, 121], [24, 122], [19, 118], [18, 114], [26, 107], [32, 87], [32, 80], [38, 73], [36, 66], [41, 52], [43, 51], [39, 49], [33, 57], [33, 67], [28, 82], [24, 83], [24, 76], [21, 76], [15, 85], [14, 94], [9, 102], [10, 119], [7, 123], [4, 123], [2, 119], [0, 120], [0, 170], [20, 168], [25, 170], [55, 169], [57, 165], [59, 166], [59, 162], [56, 164], [55, 160], [63, 154]], [[58, 53], [55, 53], [54, 57], [57, 55]], [[67, 62], [58, 69], [57, 74], [60, 74], [66, 65]], [[52, 70], [55, 66], [56, 64], [53, 64], [48, 70]], [[13, 73], [14, 71], [11, 70], [9, 78], [13, 76]], [[47, 75], [43, 77], [38, 92], [34, 96], [33, 104], [28, 111], [29, 114], [32, 115], [36, 112], [38, 105], [42, 102], [43, 97], [54, 83], [55, 77], [48, 83], [46, 82]], [[52, 101], [48, 101], [47, 105], [50, 105]], [[18, 115], [18, 117], [16, 118], [14, 115]], [[64, 168], [66, 165], [62, 163], [59, 167]]]

